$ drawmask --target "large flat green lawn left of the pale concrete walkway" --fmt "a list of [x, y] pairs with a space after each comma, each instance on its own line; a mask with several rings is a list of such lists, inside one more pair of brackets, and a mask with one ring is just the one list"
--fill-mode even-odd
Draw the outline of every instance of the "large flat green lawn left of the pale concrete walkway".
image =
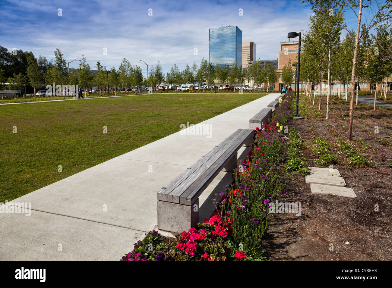
[[200, 123], [265, 95], [145, 94], [1, 105], [0, 202], [177, 132], [187, 121]]

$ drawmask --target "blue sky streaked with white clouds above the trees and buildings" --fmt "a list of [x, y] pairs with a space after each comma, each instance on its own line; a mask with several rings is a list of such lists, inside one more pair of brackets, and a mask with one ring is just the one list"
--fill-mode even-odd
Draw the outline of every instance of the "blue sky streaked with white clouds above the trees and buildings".
[[288, 32], [306, 31], [310, 14], [300, 0], [0, 0], [0, 45], [48, 60], [56, 47], [68, 60], [84, 54], [92, 69], [98, 60], [117, 69], [125, 57], [146, 75], [146, 66], [135, 61], [160, 61], [165, 72], [174, 63], [184, 69], [187, 62], [208, 60], [209, 28], [222, 25], [238, 26], [243, 42], [255, 42], [257, 58], [277, 59], [279, 42]]

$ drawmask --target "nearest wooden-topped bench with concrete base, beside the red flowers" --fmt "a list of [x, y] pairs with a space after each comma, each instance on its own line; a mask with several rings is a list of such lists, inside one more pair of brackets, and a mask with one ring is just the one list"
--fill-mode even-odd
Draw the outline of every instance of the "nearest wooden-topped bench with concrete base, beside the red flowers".
[[253, 143], [253, 130], [238, 129], [158, 192], [158, 228], [182, 232], [199, 221], [199, 196], [221, 171], [237, 167], [237, 151]]

